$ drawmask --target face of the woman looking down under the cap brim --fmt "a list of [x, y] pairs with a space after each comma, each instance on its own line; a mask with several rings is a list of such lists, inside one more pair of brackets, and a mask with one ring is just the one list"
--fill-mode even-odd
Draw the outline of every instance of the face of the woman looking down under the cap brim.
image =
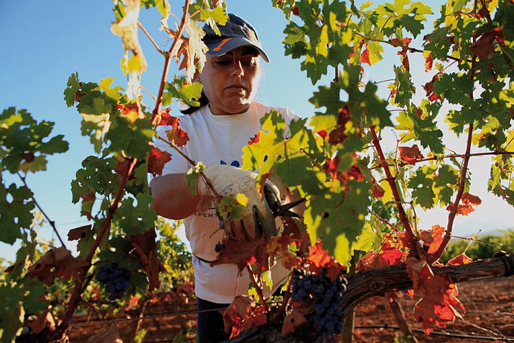
[[236, 115], [248, 110], [259, 79], [259, 55], [252, 47], [240, 47], [217, 57], [207, 56], [198, 76], [213, 115]]

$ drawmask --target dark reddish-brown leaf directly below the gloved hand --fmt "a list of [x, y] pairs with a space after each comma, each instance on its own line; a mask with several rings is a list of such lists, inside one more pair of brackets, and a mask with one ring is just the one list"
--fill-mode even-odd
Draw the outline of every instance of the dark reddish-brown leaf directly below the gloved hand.
[[260, 270], [269, 270], [269, 254], [267, 253], [267, 239], [259, 239], [257, 241], [241, 241], [232, 236], [224, 242], [225, 248], [219, 253], [216, 261], [210, 265], [235, 264], [239, 273], [245, 270], [246, 266], [255, 261], [258, 263]]

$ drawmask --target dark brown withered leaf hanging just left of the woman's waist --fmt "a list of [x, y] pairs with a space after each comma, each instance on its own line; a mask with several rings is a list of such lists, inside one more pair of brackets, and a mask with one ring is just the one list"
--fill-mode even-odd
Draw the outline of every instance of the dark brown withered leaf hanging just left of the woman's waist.
[[166, 272], [157, 257], [156, 238], [155, 228], [150, 228], [145, 233], [129, 236], [130, 244], [136, 249], [137, 257], [148, 276], [149, 292], [159, 288], [159, 273]]

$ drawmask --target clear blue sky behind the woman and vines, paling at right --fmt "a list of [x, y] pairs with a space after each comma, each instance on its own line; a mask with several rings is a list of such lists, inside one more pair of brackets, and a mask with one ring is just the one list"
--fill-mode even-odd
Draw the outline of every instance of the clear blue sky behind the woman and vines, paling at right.
[[[173, 12], [180, 16], [183, 1], [170, 2], [173, 3]], [[272, 8], [271, 0], [227, 2], [230, 12], [242, 16], [256, 27], [271, 60], [264, 68], [258, 100], [273, 106], [289, 107], [302, 117], [310, 117], [315, 109], [308, 103], [308, 99], [316, 87], [299, 70], [298, 60], [284, 56], [282, 31], [286, 21], [282, 11]], [[357, 4], [362, 2], [356, 1]], [[433, 4], [441, 2], [433, 1]], [[66, 82], [69, 75], [77, 71], [82, 81], [99, 82], [111, 77], [115, 78], [114, 84], [123, 88], [127, 84], [125, 75], [119, 69], [123, 56], [121, 40], [110, 33], [110, 25], [114, 21], [111, 8], [111, 1], [98, 0], [0, 1], [0, 110], [16, 106], [27, 109], [37, 120], [55, 121], [55, 134], [64, 134], [70, 143], [69, 152], [49, 158], [47, 171], [30, 174], [27, 178], [29, 187], [36, 194], [36, 200], [51, 220], [56, 222], [64, 239], [70, 228], [86, 224], [86, 220], [79, 216], [79, 207], [71, 204], [70, 182], [82, 160], [94, 154], [88, 138], [80, 135], [81, 117], [75, 108], [66, 108], [64, 103]], [[157, 10], [141, 10], [140, 21], [157, 43], [169, 44], [166, 43], [166, 35], [158, 31], [159, 20]], [[170, 25], [172, 21], [170, 17]], [[149, 64], [141, 82], [151, 93], [156, 94], [164, 58], [156, 53], [142, 32], [139, 39]], [[399, 64], [400, 60], [395, 51], [389, 52], [387, 68], [380, 64], [366, 70], [369, 80], [393, 78], [390, 64]], [[423, 61], [411, 55], [411, 66], [416, 63]], [[173, 73], [175, 70], [172, 69], [170, 74]], [[432, 78], [432, 74], [421, 73], [416, 77], [419, 85]], [[323, 80], [324, 84], [328, 83], [326, 80]], [[468, 217], [458, 217], [456, 228], [461, 228], [461, 233], [456, 231], [456, 234], [469, 234], [465, 227], [475, 228], [477, 225], [481, 225], [485, 231], [506, 228], [511, 226], [506, 218], [514, 217], [511, 206], [498, 198], [485, 195], [489, 171], [480, 170], [480, 161], [483, 164], [484, 160], [472, 163], [474, 177], [477, 178], [477, 187], [472, 188], [472, 193], [484, 201]], [[445, 225], [447, 213], [444, 209], [430, 213], [418, 210], [417, 214], [422, 218], [421, 226], [424, 228], [433, 224]], [[41, 231], [46, 239], [52, 237], [49, 226]], [[72, 248], [73, 244], [68, 246]], [[13, 251], [0, 243], [0, 257], [12, 258]]]

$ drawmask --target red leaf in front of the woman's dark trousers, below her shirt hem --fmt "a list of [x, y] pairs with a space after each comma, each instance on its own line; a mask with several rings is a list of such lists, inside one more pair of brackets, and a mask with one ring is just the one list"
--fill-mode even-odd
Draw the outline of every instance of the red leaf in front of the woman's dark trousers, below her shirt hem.
[[236, 296], [232, 304], [223, 313], [225, 331], [232, 329], [230, 338], [239, 333], [266, 324], [267, 316], [263, 306], [257, 306], [250, 296]]

